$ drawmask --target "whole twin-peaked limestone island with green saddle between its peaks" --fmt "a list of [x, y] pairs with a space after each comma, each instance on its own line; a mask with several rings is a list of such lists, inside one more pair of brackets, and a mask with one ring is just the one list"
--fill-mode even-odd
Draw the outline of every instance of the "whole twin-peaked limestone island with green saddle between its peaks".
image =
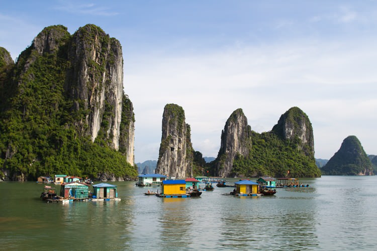
[[221, 134], [212, 171], [225, 177], [320, 177], [308, 116], [292, 107], [280, 116], [272, 131], [259, 134], [248, 126], [242, 110], [235, 110]]

